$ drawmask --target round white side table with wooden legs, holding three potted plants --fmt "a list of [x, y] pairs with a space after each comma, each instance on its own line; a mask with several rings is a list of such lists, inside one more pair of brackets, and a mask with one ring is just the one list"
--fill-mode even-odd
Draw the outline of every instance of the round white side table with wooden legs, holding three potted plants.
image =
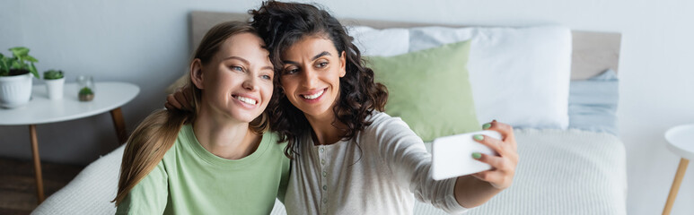
[[43, 194], [43, 177], [39, 156], [39, 141], [36, 135], [36, 125], [64, 122], [87, 116], [110, 112], [119, 143], [127, 141], [127, 133], [120, 107], [135, 99], [140, 88], [127, 82], [96, 82], [94, 99], [80, 101], [77, 98], [79, 89], [77, 83], [66, 83], [63, 89], [63, 99], [48, 99], [46, 85], [36, 85], [31, 89], [31, 100], [24, 107], [13, 109], [0, 108], [0, 125], [29, 125], [31, 136], [31, 152], [36, 174], [36, 193], [40, 202], [45, 199]]

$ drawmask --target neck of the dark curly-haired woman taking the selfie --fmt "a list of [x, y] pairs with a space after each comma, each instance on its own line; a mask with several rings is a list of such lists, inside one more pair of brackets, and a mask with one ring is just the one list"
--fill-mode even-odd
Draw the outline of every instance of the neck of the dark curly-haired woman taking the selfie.
[[335, 117], [335, 113], [327, 111], [322, 116], [309, 116], [304, 114], [313, 129], [313, 144], [329, 145], [338, 142], [345, 135], [347, 126]]

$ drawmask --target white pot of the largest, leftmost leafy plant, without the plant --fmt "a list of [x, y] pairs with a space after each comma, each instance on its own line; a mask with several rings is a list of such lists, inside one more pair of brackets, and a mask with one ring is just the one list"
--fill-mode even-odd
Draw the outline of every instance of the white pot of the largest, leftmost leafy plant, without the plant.
[[22, 107], [31, 99], [33, 74], [0, 77], [0, 107]]

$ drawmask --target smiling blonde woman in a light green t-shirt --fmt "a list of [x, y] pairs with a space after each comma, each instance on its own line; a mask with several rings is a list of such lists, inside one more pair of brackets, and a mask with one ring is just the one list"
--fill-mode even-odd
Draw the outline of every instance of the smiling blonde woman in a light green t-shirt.
[[268, 214], [283, 199], [285, 144], [267, 131], [273, 65], [247, 23], [209, 30], [189, 67], [193, 111], [157, 110], [130, 136], [117, 214]]

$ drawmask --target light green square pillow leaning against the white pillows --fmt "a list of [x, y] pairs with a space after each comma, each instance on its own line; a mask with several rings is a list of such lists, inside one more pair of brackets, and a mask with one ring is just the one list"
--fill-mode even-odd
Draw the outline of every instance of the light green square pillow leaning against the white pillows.
[[388, 87], [385, 112], [400, 116], [425, 142], [479, 131], [468, 81], [470, 41], [410, 52], [369, 56], [376, 82]]

